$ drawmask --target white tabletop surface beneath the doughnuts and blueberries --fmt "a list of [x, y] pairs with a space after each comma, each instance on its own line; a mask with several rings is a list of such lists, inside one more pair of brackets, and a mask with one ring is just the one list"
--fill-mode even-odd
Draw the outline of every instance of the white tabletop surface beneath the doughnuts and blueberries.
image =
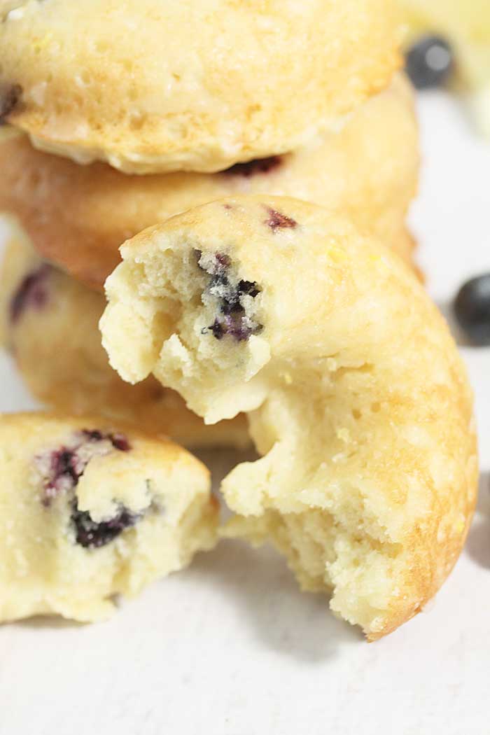
[[[490, 270], [490, 146], [449, 98], [425, 97], [421, 114], [413, 223], [444, 307]], [[368, 645], [325, 598], [301, 594], [273, 551], [223, 542], [109, 623], [1, 628], [1, 735], [489, 733], [490, 350], [464, 355], [486, 473], [467, 549], [430, 612]], [[26, 406], [1, 359], [0, 408]]]

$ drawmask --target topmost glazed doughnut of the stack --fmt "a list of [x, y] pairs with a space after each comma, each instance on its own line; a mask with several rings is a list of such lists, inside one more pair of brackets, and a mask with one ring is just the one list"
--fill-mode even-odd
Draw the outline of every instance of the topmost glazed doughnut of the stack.
[[127, 173], [292, 151], [400, 65], [392, 0], [21, 0], [1, 15], [0, 120]]

